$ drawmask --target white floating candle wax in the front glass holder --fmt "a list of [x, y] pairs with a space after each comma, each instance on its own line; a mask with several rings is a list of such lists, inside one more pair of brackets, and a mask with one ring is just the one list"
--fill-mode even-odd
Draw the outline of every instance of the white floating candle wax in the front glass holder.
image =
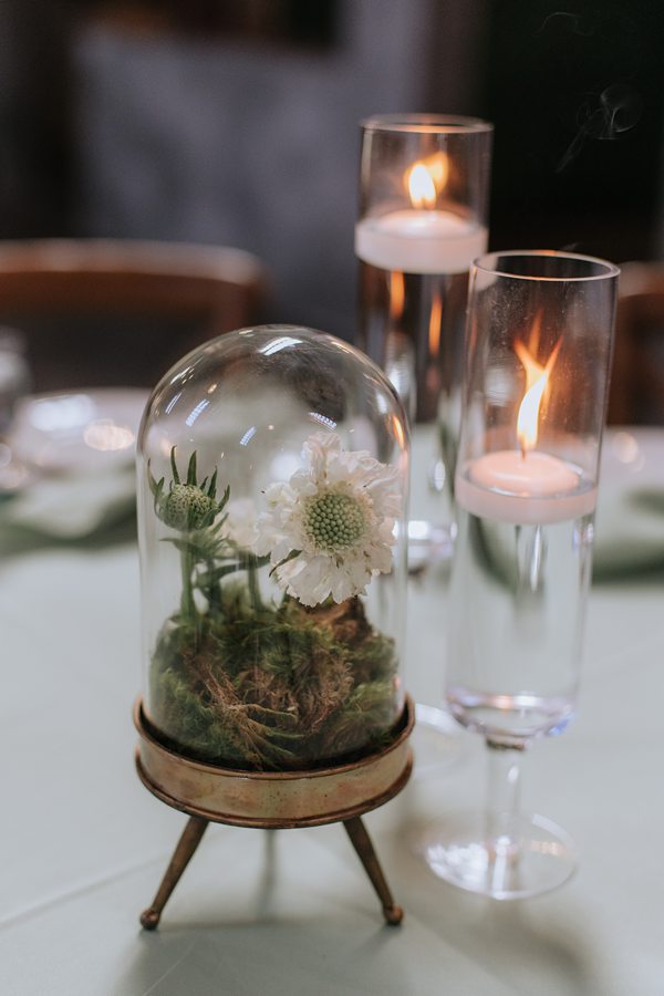
[[596, 488], [558, 457], [532, 450], [488, 453], [456, 477], [456, 498], [474, 516], [502, 522], [546, 525], [594, 510]]

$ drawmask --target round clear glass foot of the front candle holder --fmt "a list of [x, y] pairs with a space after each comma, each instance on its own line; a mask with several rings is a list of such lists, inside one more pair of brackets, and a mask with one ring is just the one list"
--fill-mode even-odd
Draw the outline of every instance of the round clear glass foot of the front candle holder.
[[546, 817], [521, 817], [512, 837], [483, 839], [481, 818], [430, 828], [418, 843], [430, 870], [459, 889], [496, 900], [558, 889], [577, 867], [574, 842]]

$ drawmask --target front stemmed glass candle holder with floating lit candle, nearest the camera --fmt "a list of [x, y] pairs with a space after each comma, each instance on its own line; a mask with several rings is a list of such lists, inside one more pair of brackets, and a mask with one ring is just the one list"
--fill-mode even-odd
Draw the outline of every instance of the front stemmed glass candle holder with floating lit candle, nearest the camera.
[[564, 881], [564, 831], [518, 807], [520, 758], [574, 715], [616, 267], [562, 252], [476, 261], [456, 471], [446, 696], [485, 737], [484, 821], [432, 831], [430, 868], [495, 899]]

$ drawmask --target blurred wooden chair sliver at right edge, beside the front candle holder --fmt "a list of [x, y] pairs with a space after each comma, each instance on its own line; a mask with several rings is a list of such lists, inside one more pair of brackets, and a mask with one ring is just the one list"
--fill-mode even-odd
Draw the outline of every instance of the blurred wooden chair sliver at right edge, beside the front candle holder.
[[608, 421], [664, 424], [664, 262], [621, 266]]

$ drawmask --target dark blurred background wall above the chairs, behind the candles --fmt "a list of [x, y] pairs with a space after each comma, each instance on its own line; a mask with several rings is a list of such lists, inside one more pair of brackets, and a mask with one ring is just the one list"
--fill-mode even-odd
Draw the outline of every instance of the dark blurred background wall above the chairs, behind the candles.
[[245, 249], [264, 320], [352, 340], [357, 123], [430, 111], [496, 125], [491, 248], [655, 261], [663, 28], [660, 0], [3, 0], [0, 239]]

